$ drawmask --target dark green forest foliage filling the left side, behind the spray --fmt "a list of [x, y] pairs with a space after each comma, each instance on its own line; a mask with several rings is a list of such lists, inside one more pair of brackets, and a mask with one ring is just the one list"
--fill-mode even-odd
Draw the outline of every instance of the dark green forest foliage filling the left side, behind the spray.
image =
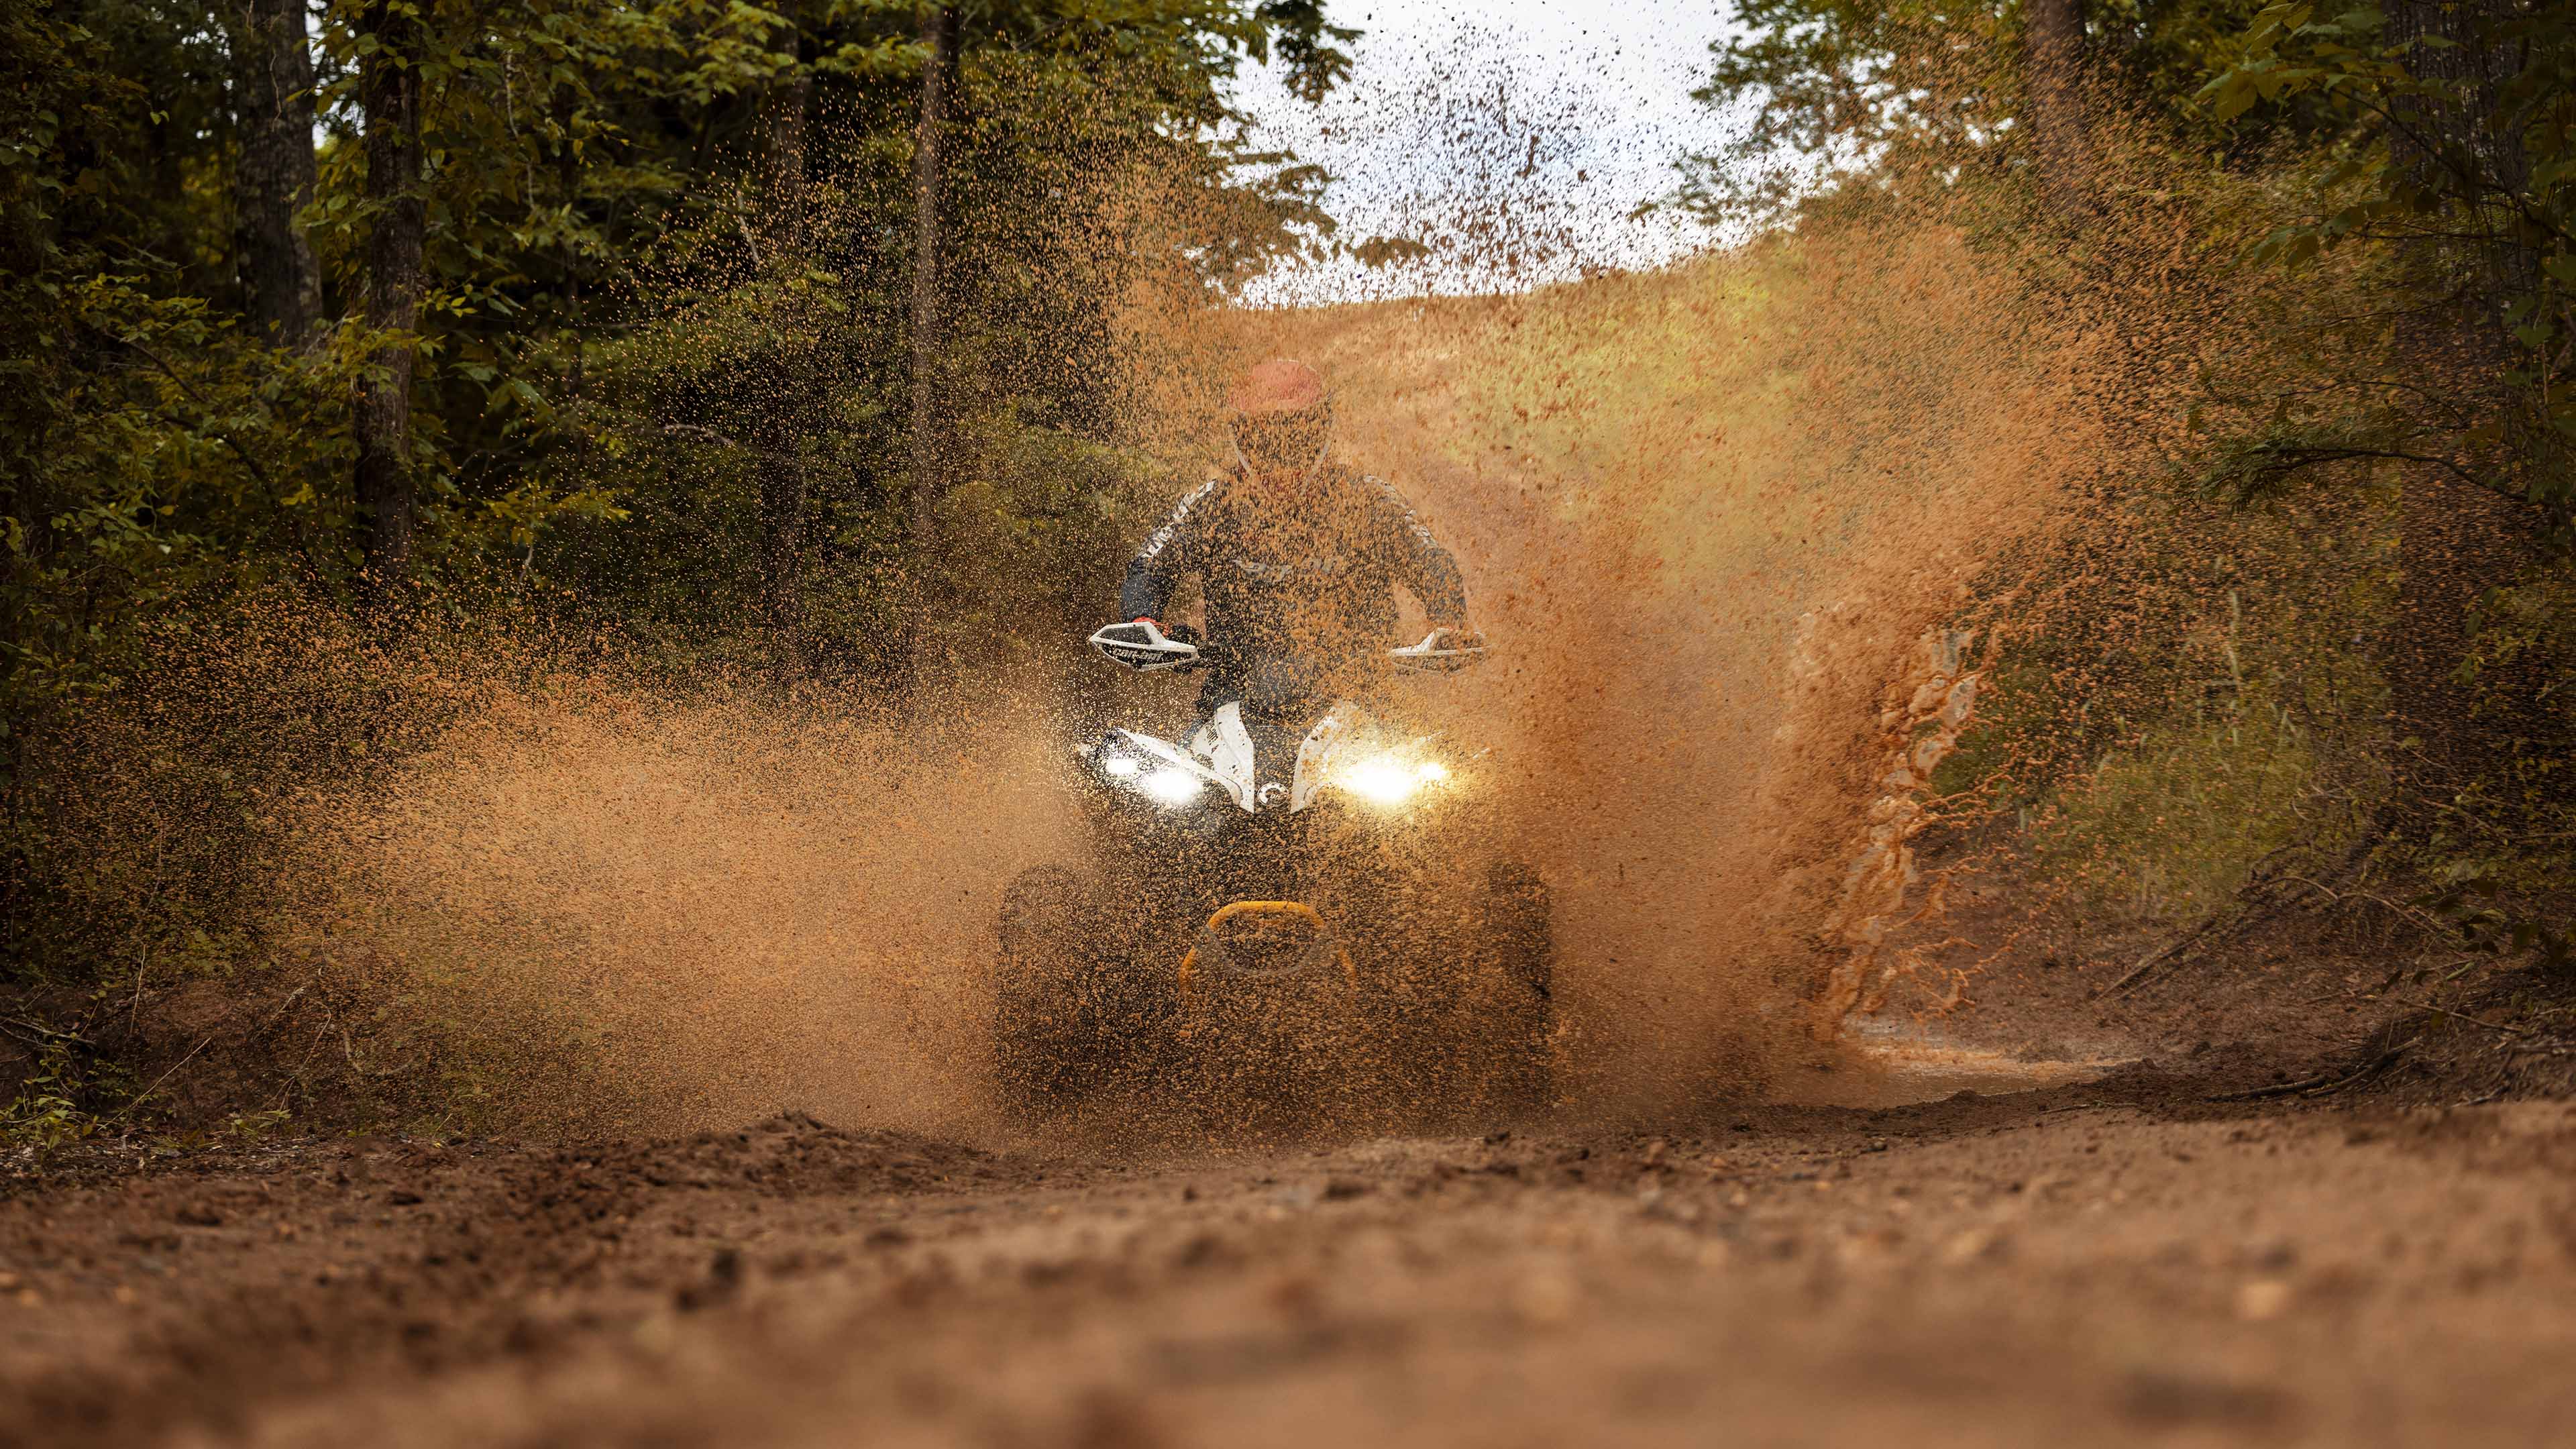
[[[1149, 338], [1121, 307], [1208, 304], [1332, 229], [1321, 175], [1252, 144], [1229, 101], [1244, 59], [1309, 98], [1347, 72], [1352, 31], [1321, 5], [958, 5], [930, 400], [958, 456], [951, 549], [922, 559], [909, 0], [314, 15], [299, 222], [327, 327], [270, 348], [245, 325], [227, 28], [160, 0], [0, 0], [10, 985], [252, 964], [294, 802], [435, 735], [469, 694], [459, 660], [510, 629], [757, 657], [781, 469], [837, 681], [891, 670], [876, 642], [917, 578], [958, 627], [1087, 603], [1149, 487], [1118, 384]], [[407, 614], [363, 619], [350, 400], [386, 338], [358, 320], [381, 201], [355, 95], [381, 15], [417, 21], [422, 85], [422, 578]], [[999, 565], [1028, 572], [1005, 590]], [[1033, 575], [1059, 583], [1033, 598]]]

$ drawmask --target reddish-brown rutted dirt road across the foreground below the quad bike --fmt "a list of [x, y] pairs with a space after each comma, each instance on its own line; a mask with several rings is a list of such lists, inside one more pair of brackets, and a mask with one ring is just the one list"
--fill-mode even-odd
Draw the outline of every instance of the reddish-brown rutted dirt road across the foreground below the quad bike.
[[8, 1444], [2540, 1444], [2576, 1106], [2148, 1075], [1048, 1163], [781, 1116], [0, 1204]]

